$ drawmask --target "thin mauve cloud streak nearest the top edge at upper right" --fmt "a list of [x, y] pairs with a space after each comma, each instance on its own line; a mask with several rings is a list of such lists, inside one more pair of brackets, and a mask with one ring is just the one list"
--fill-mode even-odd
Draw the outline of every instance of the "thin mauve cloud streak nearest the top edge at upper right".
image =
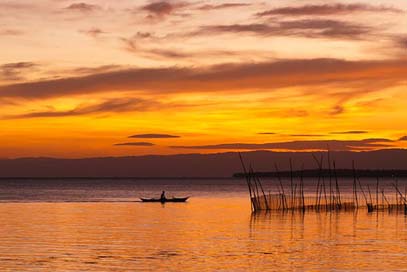
[[260, 12], [258, 16], [302, 16], [302, 15], [339, 15], [355, 12], [402, 12], [399, 9], [385, 6], [372, 6], [366, 4], [325, 4], [304, 5], [297, 7], [282, 7]]

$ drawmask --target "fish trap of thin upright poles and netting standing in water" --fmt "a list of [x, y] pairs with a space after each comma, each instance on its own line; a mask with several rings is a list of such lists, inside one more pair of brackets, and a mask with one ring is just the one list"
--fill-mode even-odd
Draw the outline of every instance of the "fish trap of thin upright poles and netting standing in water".
[[[357, 209], [367, 209], [368, 212], [373, 211], [402, 211], [407, 215], [407, 188], [404, 194], [401, 192], [398, 181], [393, 177], [393, 183], [385, 190], [385, 187], [380, 185], [379, 178], [376, 178], [374, 191], [372, 192], [370, 185], [362, 185], [355, 169], [353, 168], [353, 183], [351, 193], [341, 192], [339, 180], [336, 175], [335, 161], [329, 163], [329, 180], [325, 180], [322, 174], [317, 178], [315, 185], [315, 193], [306, 194], [304, 192], [304, 179], [300, 175], [299, 179], [295, 180], [292, 162], [290, 160], [290, 180], [289, 186], [283, 185], [281, 177], [278, 175], [279, 170], [276, 168], [276, 185], [274, 191], [277, 193], [266, 193], [262, 182], [256, 172], [250, 166], [246, 167], [241, 154], [240, 161], [244, 171], [244, 177], [249, 190], [251, 207], [253, 212], [258, 211], [353, 211]], [[329, 153], [328, 153], [329, 158]], [[315, 156], [320, 173], [323, 169], [323, 157], [318, 160]], [[328, 183], [328, 184], [327, 184]]]

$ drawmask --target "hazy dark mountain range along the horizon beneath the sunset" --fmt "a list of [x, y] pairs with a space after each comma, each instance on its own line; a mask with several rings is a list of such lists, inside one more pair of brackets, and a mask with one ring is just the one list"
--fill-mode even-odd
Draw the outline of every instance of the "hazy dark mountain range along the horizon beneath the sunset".
[[[314, 152], [324, 157], [327, 153]], [[289, 170], [292, 159], [294, 170], [318, 168], [309, 152], [254, 151], [242, 153], [247, 165], [255, 171]], [[407, 149], [369, 152], [331, 152], [338, 169], [407, 170]], [[232, 177], [242, 172], [238, 153], [182, 154], [165, 156], [104, 157], [85, 159], [21, 158], [0, 160], [0, 177]]]

